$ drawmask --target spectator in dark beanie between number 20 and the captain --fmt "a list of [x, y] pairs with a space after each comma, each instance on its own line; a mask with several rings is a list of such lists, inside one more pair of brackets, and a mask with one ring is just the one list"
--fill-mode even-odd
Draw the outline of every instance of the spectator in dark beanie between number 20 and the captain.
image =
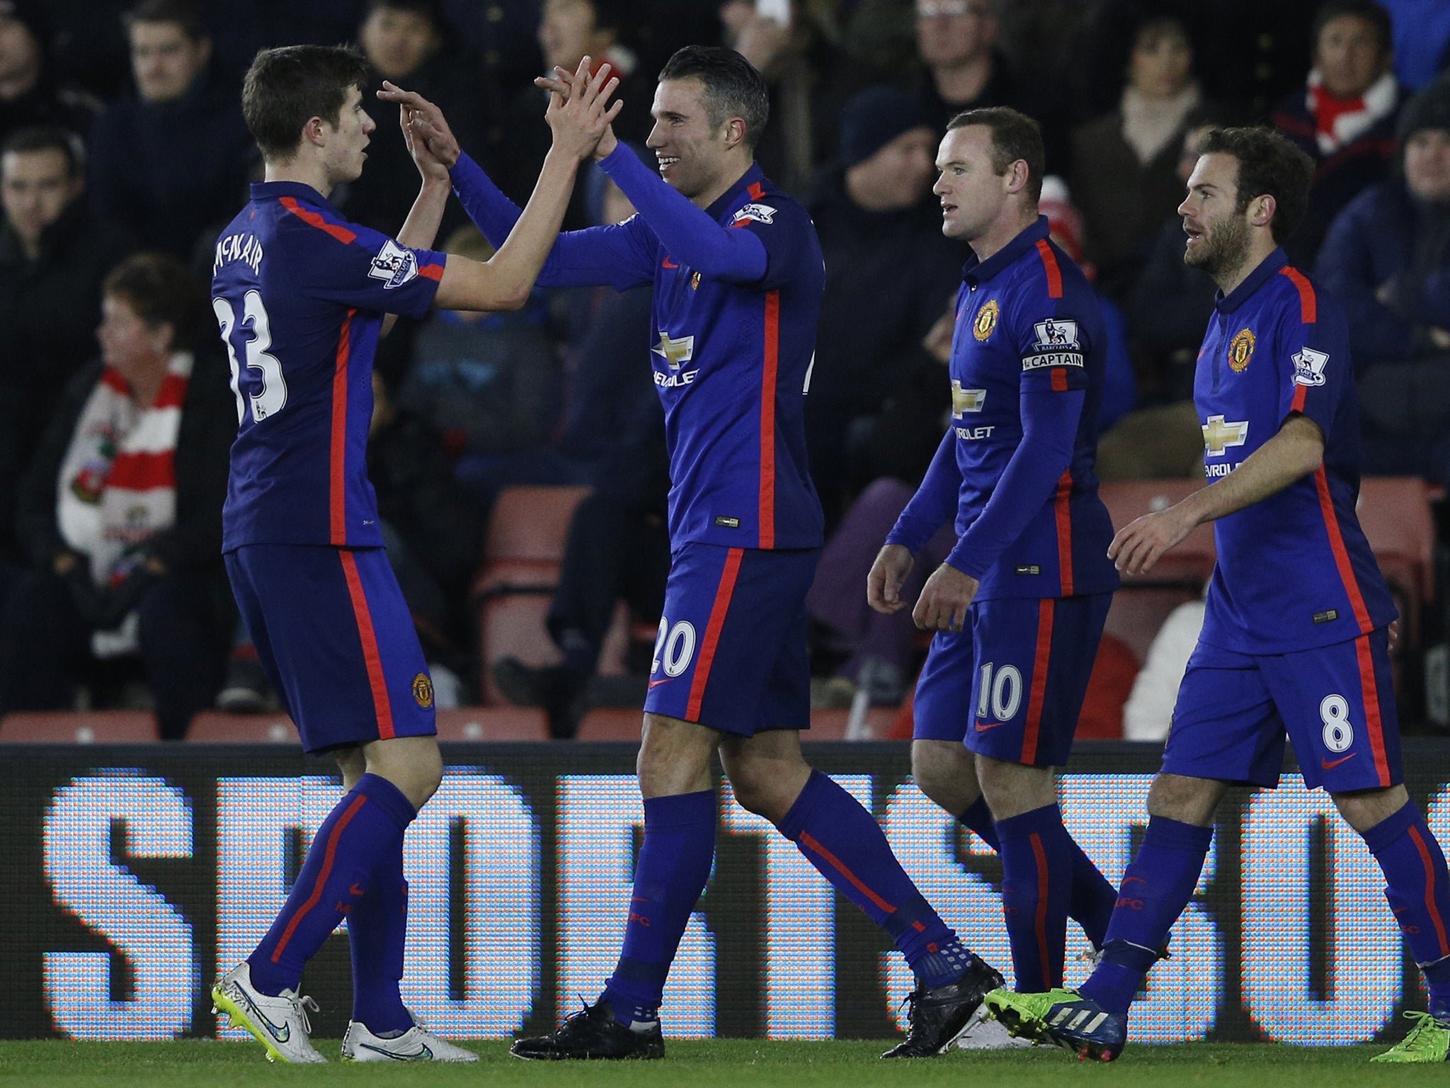
[[[921, 341], [960, 283], [967, 254], [942, 236], [929, 196], [937, 141], [911, 94], [864, 90], [842, 110], [840, 165], [806, 203], [826, 268], [806, 440], [831, 525], [877, 476], [919, 479], [941, 441], [951, 397], [945, 371]], [[918, 405], [914, 371], [922, 367], [931, 379]], [[890, 464], [873, 453], [882, 451], [873, 432], [883, 421]]]

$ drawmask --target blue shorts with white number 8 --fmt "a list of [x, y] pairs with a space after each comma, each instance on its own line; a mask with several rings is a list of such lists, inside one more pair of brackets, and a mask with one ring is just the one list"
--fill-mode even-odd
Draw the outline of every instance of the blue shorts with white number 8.
[[1286, 737], [1311, 789], [1340, 794], [1402, 780], [1383, 628], [1292, 654], [1198, 644], [1173, 706], [1163, 770], [1275, 786]]

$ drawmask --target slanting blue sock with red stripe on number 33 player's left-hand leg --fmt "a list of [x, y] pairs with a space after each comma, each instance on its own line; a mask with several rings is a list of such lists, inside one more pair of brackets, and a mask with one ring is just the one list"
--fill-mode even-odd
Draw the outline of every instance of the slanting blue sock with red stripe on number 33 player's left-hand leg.
[[364, 775], [318, 828], [287, 902], [246, 957], [252, 985], [296, 989], [302, 968], [362, 897], [381, 859], [418, 812], [384, 778]]

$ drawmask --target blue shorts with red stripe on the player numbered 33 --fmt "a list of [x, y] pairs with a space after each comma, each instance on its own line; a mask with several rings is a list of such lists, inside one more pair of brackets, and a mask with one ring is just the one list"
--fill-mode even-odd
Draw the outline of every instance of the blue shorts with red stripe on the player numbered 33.
[[226, 574], [307, 751], [434, 725], [434, 683], [383, 548], [248, 544]]

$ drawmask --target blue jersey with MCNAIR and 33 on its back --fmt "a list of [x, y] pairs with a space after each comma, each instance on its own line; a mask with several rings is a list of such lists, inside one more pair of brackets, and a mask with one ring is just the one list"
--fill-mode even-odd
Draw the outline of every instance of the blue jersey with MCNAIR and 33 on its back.
[[381, 545], [365, 466], [373, 354], [384, 313], [428, 312], [445, 261], [347, 222], [310, 186], [252, 186], [212, 265], [238, 415], [225, 551]]

